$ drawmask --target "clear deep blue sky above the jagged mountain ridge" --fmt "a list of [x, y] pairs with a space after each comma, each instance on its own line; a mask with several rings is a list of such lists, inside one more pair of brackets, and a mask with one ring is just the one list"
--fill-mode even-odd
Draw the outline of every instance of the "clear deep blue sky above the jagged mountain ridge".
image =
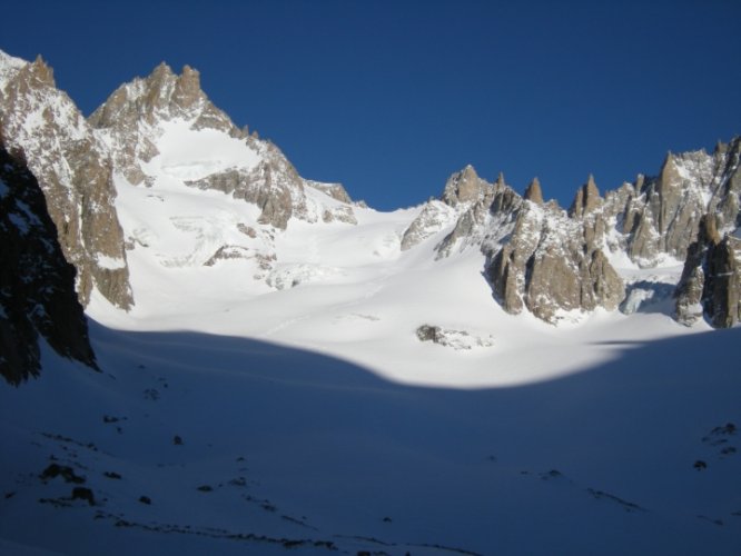
[[569, 205], [741, 133], [741, 1], [11, 2], [0, 49], [41, 53], [87, 115], [165, 60], [307, 178], [375, 208], [466, 163]]

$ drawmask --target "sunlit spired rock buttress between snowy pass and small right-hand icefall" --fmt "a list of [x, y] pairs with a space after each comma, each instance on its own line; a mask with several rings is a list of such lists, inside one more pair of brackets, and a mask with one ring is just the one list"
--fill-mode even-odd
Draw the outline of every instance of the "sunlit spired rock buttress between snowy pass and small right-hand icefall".
[[448, 179], [439, 201], [425, 205], [404, 232], [402, 247], [448, 227], [435, 248], [438, 258], [478, 247], [487, 258], [494, 297], [507, 312], [526, 308], [556, 322], [566, 311], [615, 309], [624, 297], [623, 281], [602, 251], [604, 227], [594, 216], [601, 206], [591, 177], [566, 214], [557, 203], [544, 202], [537, 179], [523, 198], [503, 176], [488, 183], [468, 166]]

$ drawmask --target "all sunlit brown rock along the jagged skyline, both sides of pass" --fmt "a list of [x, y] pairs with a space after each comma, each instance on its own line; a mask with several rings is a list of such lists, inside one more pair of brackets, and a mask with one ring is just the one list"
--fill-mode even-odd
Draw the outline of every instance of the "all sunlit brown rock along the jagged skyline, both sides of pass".
[[[275, 232], [286, 230], [292, 221], [357, 222], [355, 210], [363, 205], [353, 203], [343, 186], [302, 178], [278, 147], [237, 128], [211, 103], [200, 88], [198, 71], [188, 66], [177, 75], [166, 63], [159, 64], [147, 78], [119, 87], [86, 120], [56, 89], [52, 71], [41, 59], [28, 63], [2, 54], [0, 62], [0, 129], [39, 176], [65, 256], [78, 269], [83, 305], [93, 287], [119, 308], [136, 302], [126, 261], [126, 246], [131, 248], [136, 241], [124, 237], [118, 222], [113, 181], [154, 185], [151, 162], [161, 155], [158, 145], [171, 122], [181, 122], [188, 131], [223, 133], [250, 153], [249, 161], [184, 178], [182, 183], [258, 207], [259, 216], [249, 226], [265, 240], [265, 249], [255, 255], [264, 261], [265, 272], [256, 279], [264, 279], [275, 267]], [[444, 231], [433, 248], [435, 259], [477, 249], [485, 259], [482, 279], [488, 280], [493, 298], [511, 314], [527, 310], [557, 324], [570, 311], [612, 311], [632, 288], [613, 265], [619, 256], [645, 269], [671, 260], [681, 264], [690, 252], [694, 270], [686, 272], [694, 272], [695, 281], [700, 270], [705, 281], [714, 268], [738, 275], [728, 261], [737, 252], [732, 236], [741, 224], [740, 152], [741, 140], [735, 138], [719, 143], [712, 155], [702, 150], [669, 153], [656, 177], [639, 176], [604, 196], [590, 176], [567, 210], [554, 200], [545, 201], [547, 185], [537, 178], [520, 195], [502, 175], [487, 182], [467, 166], [454, 172], [441, 196], [424, 203], [399, 230], [399, 249], [409, 251]], [[700, 248], [692, 247], [699, 241], [703, 218], [711, 216], [720, 238], [717, 245], [725, 246], [722, 264], [714, 257], [699, 259]], [[245, 252], [238, 245], [223, 245], [205, 264], [214, 266]], [[696, 306], [700, 301], [688, 300], [682, 291], [699, 287], [683, 279], [678, 288], [675, 296], [683, 299], [678, 301], [679, 321], [696, 320], [679, 307]], [[722, 309], [724, 317], [715, 316], [719, 309], [713, 309], [718, 304], [712, 299], [721, 295], [712, 294], [720, 291], [717, 287], [703, 285], [702, 289], [701, 312], [713, 326], [738, 321], [735, 306]], [[737, 302], [729, 299], [725, 306]]]

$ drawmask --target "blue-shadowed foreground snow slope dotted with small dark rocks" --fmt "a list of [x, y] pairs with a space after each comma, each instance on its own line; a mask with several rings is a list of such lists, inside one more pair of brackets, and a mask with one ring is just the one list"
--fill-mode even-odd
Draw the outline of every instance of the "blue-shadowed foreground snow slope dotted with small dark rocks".
[[[0, 386], [0, 547], [737, 554], [738, 334], [460, 390], [246, 338], [96, 325], [103, 374], [46, 353], [41, 379]], [[55, 463], [95, 506], [40, 478]]]

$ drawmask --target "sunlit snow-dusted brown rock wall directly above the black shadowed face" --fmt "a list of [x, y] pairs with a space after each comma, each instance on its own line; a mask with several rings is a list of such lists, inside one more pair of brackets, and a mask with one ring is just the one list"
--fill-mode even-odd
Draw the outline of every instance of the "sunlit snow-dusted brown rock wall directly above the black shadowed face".
[[40, 57], [27, 63], [0, 52], [0, 131], [39, 180], [62, 252], [77, 268], [80, 300], [87, 305], [95, 287], [128, 309], [134, 300], [103, 146]]

